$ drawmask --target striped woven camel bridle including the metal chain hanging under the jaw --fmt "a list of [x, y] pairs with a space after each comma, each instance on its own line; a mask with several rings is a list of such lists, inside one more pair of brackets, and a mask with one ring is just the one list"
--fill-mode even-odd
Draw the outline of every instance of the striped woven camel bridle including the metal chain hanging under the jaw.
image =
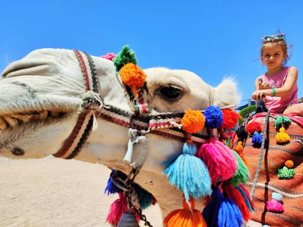
[[[120, 69], [117, 69], [117, 65], [117, 79], [124, 88], [124, 94], [131, 108], [131, 112], [126, 112], [115, 106], [105, 104], [103, 97], [99, 94], [98, 76], [91, 56], [78, 50], [73, 50], [73, 52], [76, 55], [82, 71], [85, 92], [82, 95], [82, 104], [78, 111], [79, 116], [77, 123], [62, 148], [57, 153], [53, 154], [53, 156], [64, 159], [72, 159], [76, 157], [88, 139], [91, 131], [96, 129], [96, 117], [130, 128], [129, 135], [132, 133], [131, 130], [134, 130], [140, 137], [144, 137], [147, 133], [153, 133], [181, 142], [188, 141], [188, 133], [182, 130], [181, 125], [181, 119], [185, 115], [185, 112], [150, 113], [147, 102], [143, 99], [143, 94], [148, 94], [146, 83], [137, 89], [138, 94], [135, 96], [133, 89], [130, 88], [130, 86], [119, 81], [118, 75]], [[223, 108], [230, 108], [233, 106], [234, 105], [225, 106]], [[199, 111], [203, 112], [204, 110]], [[200, 146], [206, 143], [206, 140], [210, 137], [209, 135], [210, 132], [207, 134], [192, 133], [190, 135], [190, 141], [195, 145]], [[137, 139], [137, 137], [130, 137], [130, 142], [135, 141], [135, 139]], [[127, 155], [128, 152], [126, 153], [126, 156]], [[129, 209], [133, 209], [135, 213], [140, 216], [140, 219], [145, 222], [145, 225], [151, 226], [146, 220], [146, 217], [142, 214], [139, 204], [134, 203], [134, 201], [137, 200], [133, 199], [136, 198], [137, 195], [134, 193], [131, 185], [141, 167], [142, 166], [132, 166], [132, 171], [129, 173], [125, 181], [117, 179], [116, 171], [115, 169], [112, 169], [112, 182], [124, 191]], [[121, 185], [118, 180], [124, 185]]]

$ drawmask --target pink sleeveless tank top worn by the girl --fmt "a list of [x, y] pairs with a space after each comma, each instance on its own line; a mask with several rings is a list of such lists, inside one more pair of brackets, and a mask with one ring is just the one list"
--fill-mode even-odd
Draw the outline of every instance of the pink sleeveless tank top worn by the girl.
[[[287, 72], [289, 67], [285, 67], [279, 74], [271, 77], [265, 76], [265, 74], [260, 77], [263, 79], [263, 82], [268, 82], [271, 88], [279, 88], [282, 87], [286, 81]], [[298, 87], [297, 83], [295, 83], [293, 89], [288, 93], [287, 96], [284, 97], [270, 97], [266, 96], [264, 103], [267, 109], [270, 109], [272, 112], [277, 113], [279, 111], [285, 110], [288, 105], [299, 103], [299, 99], [297, 97]]]

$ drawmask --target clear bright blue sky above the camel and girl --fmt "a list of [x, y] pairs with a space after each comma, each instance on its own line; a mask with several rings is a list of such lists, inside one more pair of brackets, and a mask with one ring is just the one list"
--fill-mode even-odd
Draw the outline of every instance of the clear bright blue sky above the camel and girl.
[[233, 75], [247, 99], [266, 72], [258, 61], [260, 40], [279, 28], [294, 44], [288, 65], [299, 71], [303, 96], [303, 1], [85, 2], [2, 1], [0, 71], [37, 48], [99, 56], [129, 44], [141, 68], [190, 70], [212, 86]]

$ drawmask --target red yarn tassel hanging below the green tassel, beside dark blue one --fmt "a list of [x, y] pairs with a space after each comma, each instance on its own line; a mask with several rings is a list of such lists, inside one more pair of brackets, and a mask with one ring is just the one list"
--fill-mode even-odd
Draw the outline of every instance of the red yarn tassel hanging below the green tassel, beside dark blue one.
[[232, 199], [237, 205], [237, 207], [240, 209], [243, 219], [245, 221], [248, 221], [248, 219], [250, 218], [250, 211], [241, 193], [236, 188], [234, 188], [229, 182], [224, 182], [224, 184], [222, 185], [222, 189], [224, 194], [228, 198]]

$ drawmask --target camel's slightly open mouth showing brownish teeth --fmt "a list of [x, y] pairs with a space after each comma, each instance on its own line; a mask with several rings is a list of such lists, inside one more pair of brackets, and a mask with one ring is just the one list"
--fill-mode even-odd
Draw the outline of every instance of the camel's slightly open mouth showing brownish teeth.
[[0, 116], [0, 133], [6, 130], [22, 127], [34, 123], [49, 123], [62, 120], [66, 116], [64, 112], [48, 111], [11, 113]]

